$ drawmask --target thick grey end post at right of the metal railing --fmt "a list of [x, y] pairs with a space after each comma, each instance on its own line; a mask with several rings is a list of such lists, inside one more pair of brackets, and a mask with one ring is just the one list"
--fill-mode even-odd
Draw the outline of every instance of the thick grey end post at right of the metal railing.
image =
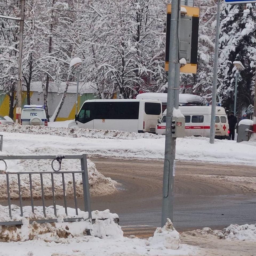
[[81, 159], [81, 169], [82, 169], [82, 182], [83, 182], [83, 200], [85, 204], [85, 211], [88, 211], [89, 219], [91, 220], [91, 202], [90, 202], [90, 189], [89, 189], [89, 179], [87, 170], [87, 160], [86, 155], [83, 155]]

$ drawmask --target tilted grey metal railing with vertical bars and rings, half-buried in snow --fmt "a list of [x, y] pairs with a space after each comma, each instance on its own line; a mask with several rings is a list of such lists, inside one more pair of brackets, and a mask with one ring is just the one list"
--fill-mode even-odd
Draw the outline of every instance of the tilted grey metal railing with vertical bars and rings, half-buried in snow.
[[[32, 160], [32, 159], [53, 159], [51, 167], [53, 171], [28, 171], [28, 172], [6, 172], [7, 164], [5, 160]], [[81, 161], [81, 171], [60, 171], [61, 169], [61, 161], [62, 159], [80, 159]], [[21, 176], [28, 174], [29, 175], [29, 188], [30, 188], [30, 205], [32, 213], [35, 213], [34, 208], [34, 198], [33, 198], [33, 181], [32, 181], [32, 174], [40, 175], [41, 181], [41, 196], [42, 196], [42, 207], [43, 207], [43, 214], [46, 217], [46, 206], [45, 206], [45, 193], [44, 193], [44, 182], [43, 176], [45, 174], [51, 175], [51, 188], [52, 188], [52, 199], [53, 199], [53, 208], [54, 208], [54, 215], [57, 217], [57, 209], [55, 203], [55, 191], [54, 191], [54, 176], [61, 175], [62, 176], [62, 190], [63, 190], [63, 204], [65, 208], [65, 213], [68, 216], [67, 211], [67, 200], [66, 200], [66, 187], [65, 187], [65, 174], [72, 174], [73, 179], [73, 191], [74, 191], [74, 204], [75, 204], [75, 214], [78, 215], [78, 207], [77, 207], [77, 192], [75, 186], [75, 174], [82, 175], [82, 188], [83, 188], [83, 202], [84, 202], [84, 210], [88, 212], [88, 219], [91, 222], [91, 205], [90, 205], [90, 191], [89, 191], [89, 179], [88, 179], [88, 170], [87, 170], [87, 160], [86, 155], [0, 155], [0, 162], [5, 163], [5, 170], [0, 170], [0, 175], [6, 175], [6, 185], [7, 185], [7, 199], [8, 199], [8, 207], [9, 207], [9, 217], [12, 219], [12, 210], [11, 210], [11, 197], [10, 197], [10, 182], [9, 182], [9, 175], [17, 175], [18, 179], [18, 197], [19, 197], [19, 207], [20, 207], [20, 216], [23, 216], [23, 204], [22, 204], [22, 193], [21, 193]], [[59, 170], [54, 170], [53, 163], [54, 161], [58, 161], [59, 163]], [[64, 218], [64, 222], [73, 222], [73, 221], [81, 221], [84, 220], [83, 218]], [[57, 218], [55, 219], [33, 219], [30, 221], [38, 223], [53, 223], [57, 222]], [[21, 225], [21, 221], [5, 221], [1, 222], [0, 225]]]

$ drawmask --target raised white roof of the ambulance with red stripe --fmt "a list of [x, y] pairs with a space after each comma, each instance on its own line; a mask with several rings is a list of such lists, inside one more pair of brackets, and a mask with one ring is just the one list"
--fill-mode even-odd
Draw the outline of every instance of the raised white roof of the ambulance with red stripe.
[[[211, 106], [180, 106], [182, 114], [211, 114]], [[166, 115], [166, 110], [163, 112]], [[224, 107], [216, 107], [216, 115], [226, 115]]]

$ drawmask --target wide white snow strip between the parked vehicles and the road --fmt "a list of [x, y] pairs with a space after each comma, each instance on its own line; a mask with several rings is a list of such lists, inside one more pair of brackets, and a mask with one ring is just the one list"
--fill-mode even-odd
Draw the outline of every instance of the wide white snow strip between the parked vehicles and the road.
[[[117, 158], [164, 158], [165, 137], [149, 133], [31, 126], [1, 126], [0, 131], [5, 131], [1, 134], [7, 153], [61, 151]], [[256, 142], [215, 140], [210, 144], [208, 138], [186, 137], [177, 139], [176, 159], [256, 165], [255, 149]]]

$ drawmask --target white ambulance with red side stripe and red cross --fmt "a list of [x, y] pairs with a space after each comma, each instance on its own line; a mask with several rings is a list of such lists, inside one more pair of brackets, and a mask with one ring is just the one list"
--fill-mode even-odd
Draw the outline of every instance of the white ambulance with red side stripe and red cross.
[[[185, 136], [210, 136], [211, 106], [180, 106], [185, 116]], [[165, 134], [166, 110], [160, 123], [156, 126], [156, 134]], [[228, 138], [229, 123], [223, 107], [216, 107], [215, 138]]]

